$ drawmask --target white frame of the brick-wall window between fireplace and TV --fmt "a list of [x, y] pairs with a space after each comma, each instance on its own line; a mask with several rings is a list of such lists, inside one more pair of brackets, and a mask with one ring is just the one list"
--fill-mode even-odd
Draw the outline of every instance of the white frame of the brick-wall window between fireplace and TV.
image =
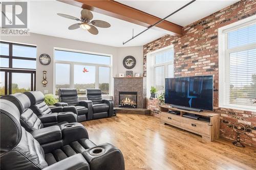
[[[147, 53], [146, 55], [146, 74], [147, 74], [147, 79], [146, 79], [146, 88], [147, 88], [147, 97], [149, 98], [150, 97], [150, 88], [151, 86], [154, 86], [156, 87], [156, 82], [155, 82], [155, 75], [156, 75], [156, 72], [155, 72], [155, 68], [158, 67], [158, 66], [164, 66], [164, 79], [165, 78], [168, 78], [168, 65], [173, 65], [173, 68], [175, 69], [174, 67], [174, 59], [172, 61], [167, 61], [167, 62], [162, 62], [162, 63], [158, 63], [156, 64], [156, 55], [157, 54], [160, 54], [160, 53], [164, 53], [168, 50], [171, 50], [173, 49], [174, 51], [174, 45], [169, 45], [169, 46], [166, 46], [166, 47], [163, 47], [163, 48], [160, 48], [156, 51], [153, 51], [153, 52], [150, 52], [150, 53]], [[174, 58], [175, 58], [175, 51], [174, 51]], [[174, 70], [173, 70], [174, 72]], [[173, 75], [174, 77], [174, 75]], [[165, 88], [165, 83], [163, 85]]]

